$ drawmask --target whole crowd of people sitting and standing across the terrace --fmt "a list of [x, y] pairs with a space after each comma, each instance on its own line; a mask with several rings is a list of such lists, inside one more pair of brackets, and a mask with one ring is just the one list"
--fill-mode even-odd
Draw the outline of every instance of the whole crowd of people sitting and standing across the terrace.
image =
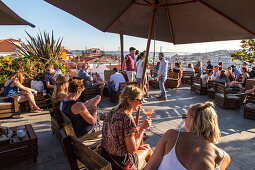
[[[142, 73], [145, 61], [145, 52], [139, 53], [131, 47], [130, 53], [125, 56], [122, 72], [116, 68], [110, 76], [108, 92], [111, 95], [117, 91], [119, 84], [125, 82], [127, 75], [129, 82], [142, 83]], [[161, 93], [157, 98], [167, 100], [165, 81], [167, 72], [172, 71], [180, 75], [183, 71], [195, 72], [201, 70], [201, 63], [194, 66], [190, 63], [182, 69], [181, 63], [175, 63], [174, 68], [168, 69], [164, 54], [159, 53], [160, 62], [154, 68], [159, 82]], [[45, 85], [47, 92], [52, 94], [56, 101], [60, 101], [60, 110], [71, 120], [77, 137], [81, 137], [97, 130], [98, 104], [101, 101], [105, 83], [98, 74], [88, 73], [89, 64], [84, 63], [78, 71], [76, 78], [70, 79], [55, 70], [53, 65], [46, 66]], [[126, 72], [124, 74], [124, 68]], [[150, 145], [145, 144], [143, 138], [145, 131], [151, 126], [151, 119], [147, 118], [140, 127], [137, 127], [132, 112], [138, 111], [145, 97], [149, 95], [148, 78], [146, 71], [144, 88], [128, 85], [119, 95], [119, 102], [105, 117], [102, 127], [102, 156], [111, 162], [112, 169], [125, 169], [132, 166], [134, 169], [225, 169], [230, 163], [230, 156], [215, 143], [219, 142], [220, 129], [214, 105], [210, 102], [192, 105], [186, 114], [182, 115], [186, 132], [168, 130], [159, 140], [154, 152]], [[154, 75], [151, 76], [152, 78]], [[250, 72], [243, 63], [241, 69], [234, 65], [224, 69], [220, 62], [213, 66], [207, 62], [205, 73], [201, 76], [204, 86], [209, 80], [225, 83], [229, 87], [243, 88], [248, 78], [255, 77], [255, 67]], [[31, 112], [40, 112], [34, 99], [37, 91], [22, 85], [23, 74], [15, 73], [5, 82], [4, 95], [17, 94], [19, 102], [28, 100]], [[100, 95], [83, 102], [79, 100], [85, 88], [99, 87]], [[246, 91], [246, 94], [255, 93], [255, 89]], [[13, 101], [8, 98], [6, 101]], [[198, 152], [199, 151], [199, 152]], [[205, 156], [206, 155], [206, 156]], [[146, 162], [146, 164], [145, 164]]]

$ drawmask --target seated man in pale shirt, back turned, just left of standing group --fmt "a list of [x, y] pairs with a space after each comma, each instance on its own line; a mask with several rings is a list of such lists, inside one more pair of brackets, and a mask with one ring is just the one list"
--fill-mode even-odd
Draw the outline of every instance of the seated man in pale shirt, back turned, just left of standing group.
[[120, 83], [126, 82], [125, 78], [121, 73], [118, 72], [117, 68], [113, 68], [113, 74], [110, 77], [110, 82], [108, 84], [109, 95], [111, 96], [112, 91], [115, 89], [118, 91]]

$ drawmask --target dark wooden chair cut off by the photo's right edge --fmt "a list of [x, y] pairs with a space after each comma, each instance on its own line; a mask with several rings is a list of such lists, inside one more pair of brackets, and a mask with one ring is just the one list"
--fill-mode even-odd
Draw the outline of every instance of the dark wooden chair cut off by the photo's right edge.
[[255, 120], [255, 95], [246, 95], [246, 101], [244, 104], [244, 118]]

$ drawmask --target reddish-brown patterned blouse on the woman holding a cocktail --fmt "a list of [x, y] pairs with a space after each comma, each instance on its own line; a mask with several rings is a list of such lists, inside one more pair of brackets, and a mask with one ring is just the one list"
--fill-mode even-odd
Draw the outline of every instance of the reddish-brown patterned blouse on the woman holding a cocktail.
[[123, 109], [111, 111], [104, 120], [102, 147], [111, 155], [125, 156], [128, 153], [125, 137], [135, 136], [137, 133], [132, 115], [126, 114]]

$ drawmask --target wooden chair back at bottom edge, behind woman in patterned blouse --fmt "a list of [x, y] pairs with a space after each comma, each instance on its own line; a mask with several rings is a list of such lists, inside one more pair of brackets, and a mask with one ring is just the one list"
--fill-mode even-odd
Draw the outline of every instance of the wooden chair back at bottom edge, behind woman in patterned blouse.
[[65, 137], [62, 143], [71, 170], [79, 169], [77, 160], [84, 166], [84, 169], [112, 169], [110, 162], [72, 136]]

